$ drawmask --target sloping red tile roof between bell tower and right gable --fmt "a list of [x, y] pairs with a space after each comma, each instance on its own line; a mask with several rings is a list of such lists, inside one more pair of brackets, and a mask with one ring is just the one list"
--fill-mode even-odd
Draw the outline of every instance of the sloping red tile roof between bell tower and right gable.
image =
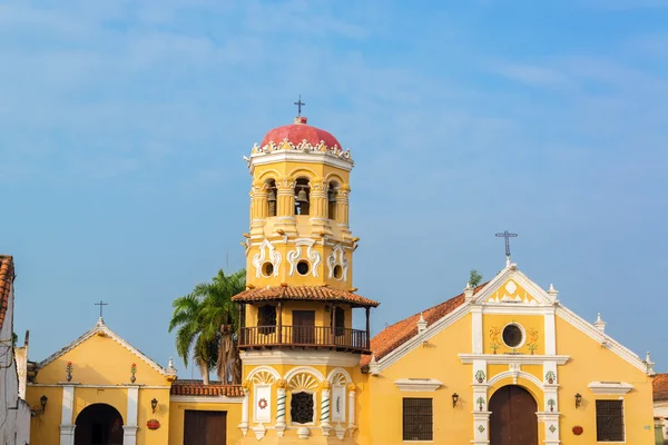
[[[482, 289], [485, 284], [478, 286], [474, 293]], [[460, 294], [456, 297], [450, 298], [448, 301], [441, 303], [440, 305], [430, 307], [422, 313], [404, 318], [401, 322], [395, 323], [392, 326], [387, 326], [381, 330], [375, 337], [371, 339], [371, 350], [375, 355], [376, 360], [380, 360], [411, 338], [418, 335], [418, 320], [420, 320], [420, 314], [424, 317], [426, 326], [431, 326], [436, 320], [443, 318], [464, 303], [464, 294]], [[371, 355], [362, 356], [360, 365], [369, 365], [371, 362]]]

